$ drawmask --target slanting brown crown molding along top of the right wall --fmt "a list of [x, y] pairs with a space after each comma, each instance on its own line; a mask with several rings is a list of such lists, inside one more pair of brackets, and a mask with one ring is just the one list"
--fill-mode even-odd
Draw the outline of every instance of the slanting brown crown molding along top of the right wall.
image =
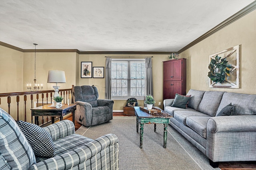
[[180, 49], [178, 51], [178, 53], [179, 54], [182, 53], [183, 51], [185, 51], [185, 50], [189, 49], [190, 47], [196, 45], [200, 41], [202, 41], [202, 40], [206, 39], [207, 37], [209, 37], [210, 35], [220, 31], [220, 29], [228, 26], [230, 23], [233, 23], [234, 21], [242, 18], [243, 16], [249, 14], [250, 12], [254, 11], [255, 9], [256, 9], [256, 1], [252, 2], [248, 6], [246, 6], [245, 8], [240, 10], [239, 12], [237, 12], [236, 14], [232, 15], [230, 18], [228, 18], [225, 21], [223, 21], [222, 23], [218, 24], [216, 27], [210, 29], [210, 31], [206, 32], [205, 34], [200, 36], [198, 39], [192, 41], [191, 43], [189, 43], [188, 45], [186, 45], [185, 47]]

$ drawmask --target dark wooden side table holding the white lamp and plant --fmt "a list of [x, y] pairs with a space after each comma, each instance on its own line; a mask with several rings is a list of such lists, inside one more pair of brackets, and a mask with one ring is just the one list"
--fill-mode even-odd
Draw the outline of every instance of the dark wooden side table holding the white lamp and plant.
[[39, 125], [38, 116], [51, 116], [52, 123], [54, 123], [54, 117], [59, 116], [60, 120], [63, 120], [63, 116], [72, 112], [73, 123], [75, 124], [75, 110], [76, 104], [62, 104], [60, 108], [52, 107], [52, 104], [39, 106], [31, 109], [32, 116], [35, 117], [35, 124]]

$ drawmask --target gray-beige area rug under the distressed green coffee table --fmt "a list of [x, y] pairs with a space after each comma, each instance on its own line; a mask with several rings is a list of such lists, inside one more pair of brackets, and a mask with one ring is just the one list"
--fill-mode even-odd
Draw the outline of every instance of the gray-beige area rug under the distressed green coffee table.
[[209, 165], [208, 158], [168, 125], [167, 146], [164, 145], [164, 126], [144, 125], [142, 149], [136, 132], [136, 117], [113, 117], [108, 123], [91, 127], [81, 126], [76, 133], [91, 139], [113, 133], [119, 143], [120, 170], [220, 170]]

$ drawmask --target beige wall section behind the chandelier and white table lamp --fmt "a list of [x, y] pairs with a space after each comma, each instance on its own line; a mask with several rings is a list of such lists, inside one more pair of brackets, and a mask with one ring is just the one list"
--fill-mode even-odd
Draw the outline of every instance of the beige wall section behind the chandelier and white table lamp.
[[[42, 83], [43, 90], [54, 90], [54, 83], [47, 83], [48, 70], [63, 70], [66, 83], [59, 83], [60, 89], [71, 88], [76, 84], [76, 53], [36, 53], [36, 82]], [[23, 90], [26, 84], [33, 84], [34, 80], [34, 53], [24, 53]]]

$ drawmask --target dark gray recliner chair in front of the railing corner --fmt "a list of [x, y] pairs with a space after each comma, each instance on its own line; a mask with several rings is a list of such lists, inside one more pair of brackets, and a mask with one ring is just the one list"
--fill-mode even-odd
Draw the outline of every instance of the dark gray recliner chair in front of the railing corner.
[[113, 119], [113, 100], [98, 99], [95, 86], [74, 86], [75, 119], [84, 126], [98, 125]]

